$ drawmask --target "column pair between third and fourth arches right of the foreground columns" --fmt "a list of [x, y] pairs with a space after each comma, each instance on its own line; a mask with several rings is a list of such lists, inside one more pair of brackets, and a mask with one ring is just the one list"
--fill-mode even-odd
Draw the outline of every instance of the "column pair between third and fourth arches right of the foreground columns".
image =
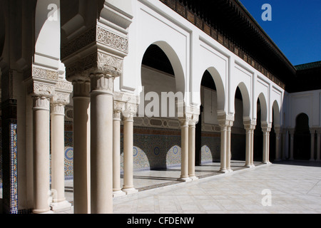
[[255, 167], [253, 162], [253, 151], [254, 151], [254, 130], [256, 123], [253, 121], [248, 121], [244, 123], [244, 127], [246, 130], [246, 146], [245, 146], [245, 167]]

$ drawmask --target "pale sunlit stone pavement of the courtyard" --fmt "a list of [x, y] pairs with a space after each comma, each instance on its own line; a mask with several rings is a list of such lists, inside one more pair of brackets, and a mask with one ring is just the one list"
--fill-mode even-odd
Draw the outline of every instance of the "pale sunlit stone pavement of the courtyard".
[[[115, 214], [321, 213], [321, 163], [280, 162], [218, 173], [219, 163], [196, 167], [200, 180], [176, 182], [179, 168], [134, 173], [140, 192], [113, 199]], [[156, 187], [156, 188], [153, 188]], [[69, 187], [72, 189], [72, 187]], [[68, 191], [68, 186], [66, 187]], [[72, 192], [66, 192], [70, 198]], [[72, 198], [70, 198], [72, 200]], [[68, 212], [73, 213], [73, 209]]]

